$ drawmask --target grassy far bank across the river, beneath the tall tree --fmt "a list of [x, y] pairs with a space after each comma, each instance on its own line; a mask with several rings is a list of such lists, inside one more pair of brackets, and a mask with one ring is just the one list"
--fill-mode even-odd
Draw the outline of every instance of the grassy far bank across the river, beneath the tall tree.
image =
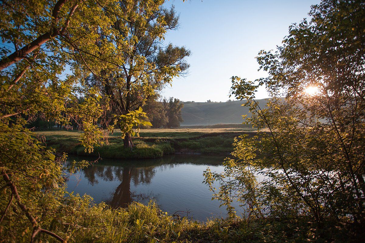
[[244, 133], [255, 134], [242, 128], [220, 129], [142, 129], [140, 137], [133, 138], [135, 147], [124, 148], [120, 132], [110, 134], [105, 144], [94, 148], [89, 154], [78, 140], [81, 132], [71, 130], [49, 130], [35, 132], [44, 136], [46, 145], [57, 152], [74, 155], [100, 156], [102, 158], [160, 158], [166, 154], [229, 154], [233, 150], [233, 139]]

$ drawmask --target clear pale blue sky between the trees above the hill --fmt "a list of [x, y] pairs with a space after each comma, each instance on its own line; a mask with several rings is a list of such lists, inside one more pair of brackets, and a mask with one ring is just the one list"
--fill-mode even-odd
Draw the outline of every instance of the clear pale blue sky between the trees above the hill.
[[[180, 14], [180, 27], [170, 31], [166, 43], [191, 50], [189, 74], [175, 78], [161, 95], [181, 101], [227, 101], [231, 77], [254, 80], [266, 77], [258, 72], [255, 57], [260, 50], [275, 50], [292, 23], [308, 17], [319, 0], [169, 0]], [[268, 98], [262, 87], [257, 99]], [[233, 99], [233, 98], [231, 98]]]

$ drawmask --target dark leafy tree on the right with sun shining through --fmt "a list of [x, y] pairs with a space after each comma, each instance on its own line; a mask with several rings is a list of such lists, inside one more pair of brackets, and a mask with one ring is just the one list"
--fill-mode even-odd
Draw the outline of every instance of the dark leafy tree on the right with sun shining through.
[[[237, 199], [251, 217], [296, 219], [311, 240], [364, 237], [365, 3], [324, 0], [289, 27], [276, 52], [257, 57], [267, 78], [232, 78], [232, 94], [247, 100], [258, 129], [235, 140], [222, 174], [205, 172], [215, 198]], [[254, 100], [265, 85], [267, 109]], [[285, 97], [278, 98], [278, 97]], [[258, 182], [256, 175], [266, 178]], [[229, 177], [230, 180], [226, 180]], [[220, 181], [216, 192], [212, 182]], [[301, 222], [301, 223], [299, 223]], [[308, 237], [308, 236], [306, 236]]]

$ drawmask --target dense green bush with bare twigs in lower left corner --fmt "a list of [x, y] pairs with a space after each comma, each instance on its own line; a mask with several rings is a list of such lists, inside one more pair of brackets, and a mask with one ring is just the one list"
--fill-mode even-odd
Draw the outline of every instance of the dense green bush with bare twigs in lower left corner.
[[[34, 216], [33, 213], [41, 207], [40, 199], [50, 193], [55, 196], [62, 193], [63, 189], [59, 187], [65, 179], [61, 166], [65, 155], [56, 159], [54, 150], [46, 150], [22, 125], [1, 124], [0, 129], [0, 202], [4, 206], [0, 238], [4, 242], [23, 242], [30, 238], [33, 242], [37, 233], [43, 232], [59, 239], [58, 235], [42, 228], [52, 219], [46, 215]], [[80, 169], [86, 164], [86, 161], [73, 162], [69, 171]]]

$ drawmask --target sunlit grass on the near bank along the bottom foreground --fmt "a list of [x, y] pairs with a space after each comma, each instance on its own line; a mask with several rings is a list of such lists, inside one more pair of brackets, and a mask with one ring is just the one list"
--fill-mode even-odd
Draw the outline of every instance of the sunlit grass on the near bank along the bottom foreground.
[[[67, 204], [41, 200], [40, 205], [56, 215], [64, 213], [59, 220], [61, 226], [51, 223], [43, 227], [57, 232], [67, 242], [311, 242], [316, 234], [307, 217], [210, 219], [202, 223], [169, 216], [153, 202], [148, 205], [134, 202], [126, 208], [112, 209], [104, 203], [91, 205], [92, 198], [87, 195], [70, 195], [65, 199]], [[341, 235], [341, 232], [334, 233]], [[56, 242], [45, 234], [43, 240]]]

